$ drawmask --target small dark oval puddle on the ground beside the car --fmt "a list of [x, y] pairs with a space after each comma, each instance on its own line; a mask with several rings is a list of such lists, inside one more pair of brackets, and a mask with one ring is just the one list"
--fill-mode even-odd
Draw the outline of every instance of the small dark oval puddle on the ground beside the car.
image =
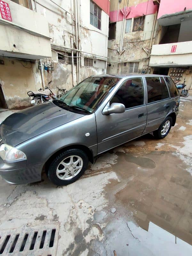
[[133, 156], [132, 154], [125, 154], [125, 160], [127, 162], [137, 164], [143, 168], [153, 169], [156, 166], [155, 162], [148, 157]]

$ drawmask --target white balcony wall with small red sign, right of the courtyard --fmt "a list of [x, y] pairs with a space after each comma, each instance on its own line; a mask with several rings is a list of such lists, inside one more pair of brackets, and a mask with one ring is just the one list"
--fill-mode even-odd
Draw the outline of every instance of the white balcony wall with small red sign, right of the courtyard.
[[192, 41], [171, 44], [154, 44], [151, 51], [149, 66], [192, 66]]

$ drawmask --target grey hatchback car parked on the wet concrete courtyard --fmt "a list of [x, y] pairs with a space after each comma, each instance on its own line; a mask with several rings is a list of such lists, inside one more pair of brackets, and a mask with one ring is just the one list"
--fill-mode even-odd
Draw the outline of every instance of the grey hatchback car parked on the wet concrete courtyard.
[[0, 127], [0, 174], [9, 183], [77, 180], [101, 153], [176, 122], [179, 92], [169, 76], [91, 76], [58, 100], [14, 113]]

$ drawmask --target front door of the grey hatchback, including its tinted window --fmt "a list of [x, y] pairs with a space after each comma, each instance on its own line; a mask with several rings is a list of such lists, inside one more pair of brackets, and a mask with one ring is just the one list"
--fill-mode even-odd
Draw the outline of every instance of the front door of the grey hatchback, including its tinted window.
[[111, 103], [122, 103], [125, 112], [103, 115], [103, 108], [95, 112], [98, 154], [142, 135], [147, 121], [146, 92], [143, 78], [125, 80]]

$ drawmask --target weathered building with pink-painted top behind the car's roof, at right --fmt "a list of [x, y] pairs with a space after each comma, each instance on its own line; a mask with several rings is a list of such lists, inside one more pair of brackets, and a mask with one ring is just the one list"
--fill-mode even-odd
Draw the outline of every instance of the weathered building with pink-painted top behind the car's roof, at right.
[[192, 89], [192, 1], [111, 0], [107, 73], [170, 75]]

